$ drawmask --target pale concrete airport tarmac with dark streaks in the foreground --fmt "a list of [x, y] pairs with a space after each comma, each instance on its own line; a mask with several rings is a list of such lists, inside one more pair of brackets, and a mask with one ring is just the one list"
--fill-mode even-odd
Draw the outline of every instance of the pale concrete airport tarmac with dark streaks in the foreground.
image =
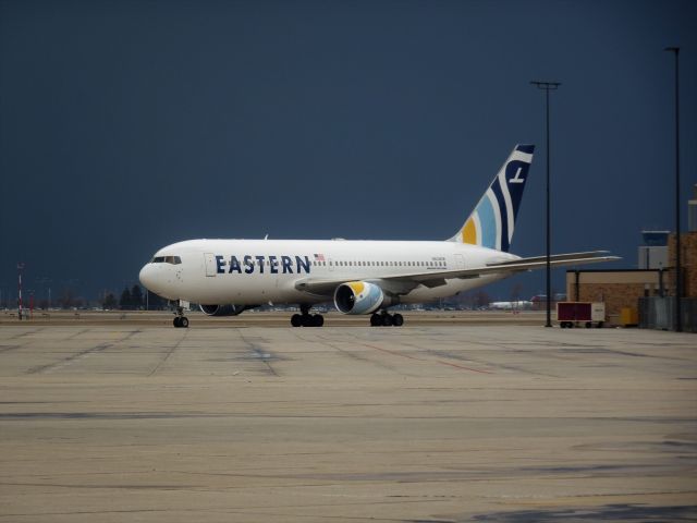
[[0, 327], [0, 522], [697, 519], [694, 335], [76, 324]]

